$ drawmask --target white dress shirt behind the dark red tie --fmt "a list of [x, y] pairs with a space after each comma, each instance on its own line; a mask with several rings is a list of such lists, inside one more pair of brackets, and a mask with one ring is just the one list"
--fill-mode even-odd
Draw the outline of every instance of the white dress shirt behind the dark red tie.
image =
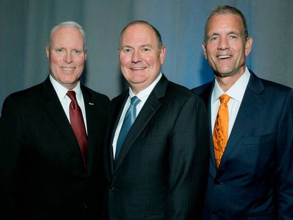
[[[63, 107], [63, 110], [67, 116], [67, 119], [70, 123], [70, 115], [69, 115], [69, 105], [71, 103], [71, 99], [66, 95], [68, 89], [63, 87], [60, 83], [58, 83], [52, 76], [51, 74], [49, 75], [50, 81], [58, 95], [58, 98], [61, 102], [61, 105]], [[84, 108], [84, 97], [83, 97], [83, 93], [81, 90], [81, 85], [80, 82], [78, 82], [77, 86], [75, 88], [72, 89], [73, 91], [75, 91], [76, 93], [76, 100], [77, 100], [77, 104], [79, 105], [79, 107], [82, 110], [83, 113], [83, 118], [84, 118], [84, 126], [85, 126], [85, 131], [87, 133], [87, 126], [86, 126], [86, 117], [85, 117], [85, 108]]]

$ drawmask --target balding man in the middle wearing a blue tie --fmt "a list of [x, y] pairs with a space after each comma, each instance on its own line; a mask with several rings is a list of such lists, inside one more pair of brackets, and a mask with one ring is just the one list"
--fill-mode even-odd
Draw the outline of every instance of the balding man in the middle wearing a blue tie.
[[130, 22], [119, 44], [129, 89], [111, 101], [105, 174], [109, 220], [199, 219], [208, 177], [204, 103], [161, 73], [156, 28]]

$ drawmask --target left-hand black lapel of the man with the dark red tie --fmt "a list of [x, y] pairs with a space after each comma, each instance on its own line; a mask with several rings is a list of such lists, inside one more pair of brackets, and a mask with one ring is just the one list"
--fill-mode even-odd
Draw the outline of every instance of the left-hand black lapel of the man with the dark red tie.
[[47, 110], [52, 120], [55, 122], [56, 127], [58, 127], [58, 129], [63, 133], [73, 152], [79, 158], [79, 161], [82, 163], [83, 159], [80, 153], [78, 142], [49, 77], [43, 82], [42, 89], [45, 109]]

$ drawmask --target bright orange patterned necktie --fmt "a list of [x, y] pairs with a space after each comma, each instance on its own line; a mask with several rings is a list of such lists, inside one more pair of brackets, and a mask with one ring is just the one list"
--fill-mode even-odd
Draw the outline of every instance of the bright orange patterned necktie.
[[230, 100], [230, 96], [227, 94], [222, 94], [219, 99], [221, 104], [218, 110], [214, 132], [212, 135], [217, 167], [219, 167], [228, 141], [229, 111], [227, 103]]

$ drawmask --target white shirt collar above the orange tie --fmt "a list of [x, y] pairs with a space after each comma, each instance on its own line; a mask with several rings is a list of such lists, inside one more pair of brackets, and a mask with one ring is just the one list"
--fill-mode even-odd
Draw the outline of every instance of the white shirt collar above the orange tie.
[[[241, 102], [244, 96], [245, 89], [248, 85], [250, 78], [250, 72], [247, 67], [245, 67], [245, 72], [244, 74], [234, 83], [231, 88], [226, 92], [227, 95], [229, 95], [232, 99], [237, 100], [238, 102]], [[214, 86], [214, 94], [213, 94], [213, 100], [212, 102], [214, 103], [215, 101], [218, 100], [218, 98], [224, 94], [225, 92], [223, 89], [219, 86], [217, 80], [215, 80], [215, 86]]]

